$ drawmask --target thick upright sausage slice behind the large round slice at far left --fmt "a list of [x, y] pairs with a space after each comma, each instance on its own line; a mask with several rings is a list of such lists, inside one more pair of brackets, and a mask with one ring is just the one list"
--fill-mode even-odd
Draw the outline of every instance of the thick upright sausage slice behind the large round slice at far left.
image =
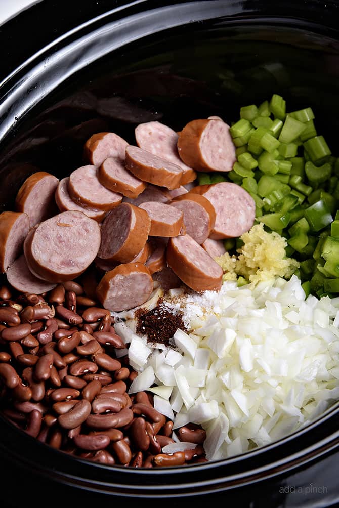
[[38, 171], [30, 175], [19, 188], [15, 208], [28, 215], [31, 228], [54, 214], [54, 194], [58, 183], [55, 176]]

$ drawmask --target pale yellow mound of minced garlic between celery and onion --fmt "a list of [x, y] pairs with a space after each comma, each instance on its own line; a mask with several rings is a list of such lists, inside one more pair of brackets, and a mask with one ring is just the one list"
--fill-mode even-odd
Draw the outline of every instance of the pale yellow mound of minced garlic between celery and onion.
[[238, 256], [226, 252], [215, 261], [224, 271], [223, 280], [236, 280], [241, 275], [254, 284], [272, 277], [289, 278], [299, 267], [299, 262], [286, 257], [286, 239], [274, 231], [267, 233], [263, 224], [256, 224], [244, 233], [237, 250]]

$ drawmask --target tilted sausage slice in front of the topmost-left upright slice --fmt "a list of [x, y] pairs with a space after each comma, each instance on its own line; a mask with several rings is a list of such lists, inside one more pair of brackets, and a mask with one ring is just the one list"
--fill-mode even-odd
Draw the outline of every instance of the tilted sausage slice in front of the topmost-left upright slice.
[[124, 163], [115, 157], [108, 157], [98, 168], [100, 183], [127, 198], [137, 198], [146, 184], [125, 168]]

